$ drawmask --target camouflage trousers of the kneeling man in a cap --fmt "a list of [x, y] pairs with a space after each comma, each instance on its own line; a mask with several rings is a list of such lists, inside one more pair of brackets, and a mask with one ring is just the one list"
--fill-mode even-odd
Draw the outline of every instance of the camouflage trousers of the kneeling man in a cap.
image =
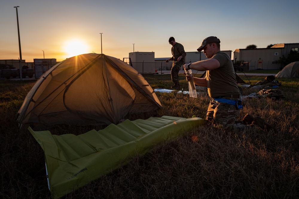
[[[230, 100], [239, 100], [237, 98], [228, 98]], [[214, 99], [210, 101], [206, 121], [213, 125], [222, 124], [223, 126], [235, 124], [239, 118], [240, 110], [234, 105], [216, 102]]]

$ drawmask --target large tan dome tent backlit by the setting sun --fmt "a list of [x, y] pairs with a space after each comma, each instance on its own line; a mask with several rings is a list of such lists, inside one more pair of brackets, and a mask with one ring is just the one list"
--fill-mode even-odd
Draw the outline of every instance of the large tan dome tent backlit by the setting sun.
[[162, 105], [145, 78], [104, 54], [68, 58], [46, 71], [19, 109], [20, 124], [118, 124]]

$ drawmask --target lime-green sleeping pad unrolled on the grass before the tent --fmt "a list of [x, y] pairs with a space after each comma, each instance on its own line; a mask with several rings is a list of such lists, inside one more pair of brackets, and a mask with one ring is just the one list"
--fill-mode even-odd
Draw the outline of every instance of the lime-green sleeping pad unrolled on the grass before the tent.
[[144, 155], [153, 146], [204, 124], [202, 118], [162, 116], [126, 120], [77, 136], [28, 130], [44, 151], [51, 195], [61, 198], [117, 169], [122, 161], [129, 163], [130, 157]]

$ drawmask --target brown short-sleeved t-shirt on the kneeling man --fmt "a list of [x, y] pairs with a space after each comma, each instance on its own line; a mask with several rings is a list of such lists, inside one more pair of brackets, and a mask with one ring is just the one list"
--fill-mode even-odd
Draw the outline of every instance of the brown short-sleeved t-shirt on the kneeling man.
[[211, 59], [217, 59], [220, 67], [207, 70], [205, 78], [207, 79], [209, 96], [216, 98], [223, 95], [240, 95], [233, 63], [229, 55], [219, 51]]

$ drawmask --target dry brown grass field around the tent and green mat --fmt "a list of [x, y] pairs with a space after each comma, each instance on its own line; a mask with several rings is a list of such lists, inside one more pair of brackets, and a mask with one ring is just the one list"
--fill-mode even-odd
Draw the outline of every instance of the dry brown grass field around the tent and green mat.
[[[188, 90], [184, 75], [181, 89]], [[146, 75], [155, 88], [170, 89], [170, 75]], [[250, 76], [255, 84], [264, 76]], [[66, 198], [299, 198], [299, 79], [275, 79], [285, 98], [244, 99], [246, 113], [262, 117], [277, 131], [201, 126], [154, 146], [145, 156], [74, 190]], [[16, 114], [34, 81], [0, 81], [0, 198], [51, 198], [44, 154]], [[271, 88], [269, 88], [271, 89]], [[243, 88], [243, 95], [259, 90]], [[142, 115], [204, 118], [210, 98], [156, 93], [164, 109]], [[52, 134], [82, 134], [101, 127], [46, 127]], [[122, 163], [120, 163], [122, 164]]]

